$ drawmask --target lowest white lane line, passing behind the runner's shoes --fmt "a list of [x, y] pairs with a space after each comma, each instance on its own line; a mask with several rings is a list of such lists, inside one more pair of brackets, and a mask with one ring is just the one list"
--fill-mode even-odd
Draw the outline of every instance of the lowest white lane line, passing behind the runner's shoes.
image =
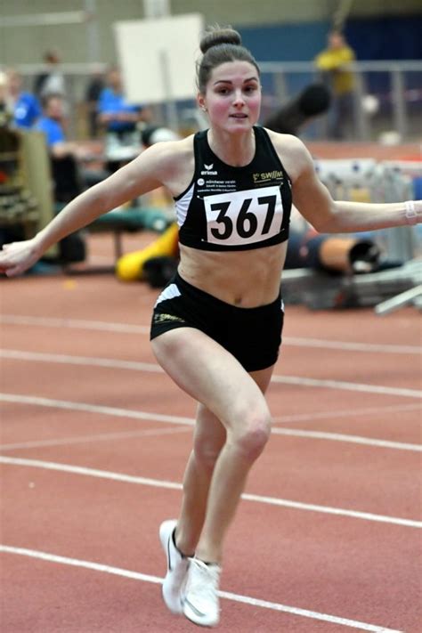
[[[47, 561], [49, 563], [68, 564], [73, 567], [83, 567], [85, 569], [92, 570], [94, 572], [110, 573], [116, 576], [123, 576], [131, 580], [142, 580], [142, 582], [151, 582], [153, 584], [161, 584], [162, 579], [158, 576], [150, 576], [146, 573], [131, 572], [121, 567], [111, 567], [107, 564], [93, 563], [91, 561], [80, 560], [78, 558], [69, 558], [69, 556], [57, 556], [48, 552], [41, 552], [35, 549], [27, 548], [15, 548], [10, 545], [0, 545], [0, 551], [6, 554], [14, 554], [18, 556], [29, 556], [31, 558], [37, 558], [39, 560]], [[271, 609], [272, 611], [280, 611], [283, 613], [291, 613], [293, 615], [299, 615], [304, 618], [310, 618], [312, 620], [321, 620], [330, 622], [332, 624], [339, 624], [351, 629], [359, 629], [364, 631], [373, 631], [374, 633], [403, 633], [396, 629], [385, 629], [385, 627], [377, 626], [375, 624], [367, 624], [366, 622], [360, 622], [355, 620], [348, 620], [346, 618], [340, 618], [337, 615], [329, 615], [327, 613], [318, 613], [316, 611], [309, 611], [308, 609], [300, 609], [294, 606], [280, 605], [280, 603], [269, 602], [268, 600], [260, 600], [250, 596], [239, 596], [239, 594], [233, 594], [228, 591], [219, 591], [218, 595], [226, 600], [232, 600], [234, 602], [240, 602], [244, 605], [258, 606], [263, 609]]]

